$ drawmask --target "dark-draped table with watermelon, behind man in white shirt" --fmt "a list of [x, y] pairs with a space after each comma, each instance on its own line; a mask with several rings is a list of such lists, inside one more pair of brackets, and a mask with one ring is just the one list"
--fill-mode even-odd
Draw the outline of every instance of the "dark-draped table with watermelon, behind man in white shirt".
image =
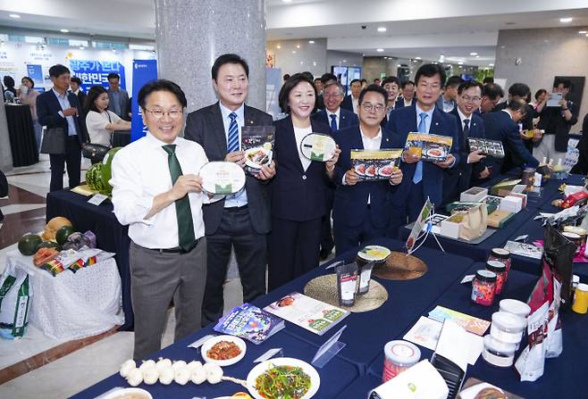
[[96, 234], [97, 246], [113, 252], [122, 282], [122, 310], [124, 324], [121, 330], [133, 328], [132, 303], [130, 302], [129, 245], [127, 226], [122, 226], [113, 213], [113, 204], [106, 200], [100, 205], [88, 204], [89, 197], [69, 190], [53, 191], [47, 194], [46, 218], [63, 216], [80, 232], [91, 230]]

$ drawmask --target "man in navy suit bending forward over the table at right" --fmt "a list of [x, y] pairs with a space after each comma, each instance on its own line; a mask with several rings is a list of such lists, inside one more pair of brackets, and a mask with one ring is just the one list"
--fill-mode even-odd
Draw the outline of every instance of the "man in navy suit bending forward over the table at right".
[[[505, 157], [510, 158], [510, 164], [514, 166], [531, 166], [536, 168], [539, 162], [533, 158], [529, 150], [525, 148], [520, 137], [518, 122], [525, 118], [527, 107], [524, 100], [513, 100], [507, 108], [499, 112], [489, 112], [482, 115], [486, 137], [492, 140], [500, 140], [504, 146]], [[504, 159], [494, 158], [487, 160], [491, 166], [490, 178], [504, 173]]]

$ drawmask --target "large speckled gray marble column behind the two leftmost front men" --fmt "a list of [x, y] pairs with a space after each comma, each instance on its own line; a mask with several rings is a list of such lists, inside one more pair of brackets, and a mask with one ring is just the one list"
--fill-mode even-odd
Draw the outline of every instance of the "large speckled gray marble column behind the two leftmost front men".
[[221, 54], [249, 65], [247, 104], [265, 110], [265, 0], [155, 0], [158, 76], [178, 83], [188, 112], [216, 102], [210, 69]]

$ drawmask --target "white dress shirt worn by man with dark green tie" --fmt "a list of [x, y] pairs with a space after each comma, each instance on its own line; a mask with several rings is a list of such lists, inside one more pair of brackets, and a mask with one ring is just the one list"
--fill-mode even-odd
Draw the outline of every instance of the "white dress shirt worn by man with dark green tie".
[[[177, 137], [175, 154], [182, 174], [195, 174], [208, 159], [201, 145]], [[172, 188], [172, 176], [168, 166], [169, 155], [163, 141], [150, 132], [147, 136], [123, 147], [113, 158], [114, 214], [122, 225], [129, 225], [129, 237], [145, 248], [175, 248], [179, 246], [178, 219], [175, 204], [169, 204], [148, 220], [145, 216], [153, 206], [156, 195]], [[204, 236], [202, 204], [208, 203], [203, 193], [189, 193], [189, 204], [194, 222], [194, 237]]]

